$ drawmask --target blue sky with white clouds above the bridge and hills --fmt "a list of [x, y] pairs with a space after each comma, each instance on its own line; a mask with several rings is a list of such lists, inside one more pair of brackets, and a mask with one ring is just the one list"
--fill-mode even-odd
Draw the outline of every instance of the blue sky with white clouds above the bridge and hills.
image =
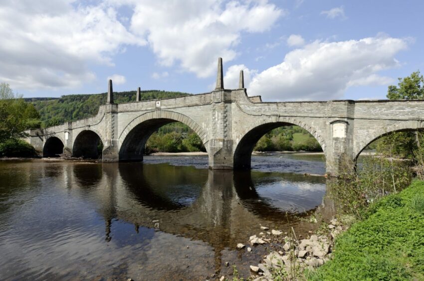
[[381, 99], [424, 72], [424, 1], [0, 0], [0, 82], [24, 97], [212, 90]]

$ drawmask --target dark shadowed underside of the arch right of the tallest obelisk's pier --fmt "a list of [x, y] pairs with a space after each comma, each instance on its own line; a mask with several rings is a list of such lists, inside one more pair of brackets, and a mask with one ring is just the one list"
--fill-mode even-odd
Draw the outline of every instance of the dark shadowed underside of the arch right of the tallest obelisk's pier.
[[[234, 156], [233, 156], [234, 169], [237, 169], [237, 170], [250, 169], [253, 148], [255, 147], [259, 139], [262, 138], [262, 136], [264, 136], [269, 131], [273, 129], [277, 129], [279, 127], [283, 127], [283, 126], [299, 126], [302, 129], [305, 129], [304, 126], [300, 126], [298, 124], [293, 124], [288, 122], [268, 122], [268, 123], [264, 123], [252, 128], [237, 143], [237, 147], [234, 150]], [[311, 134], [309, 130], [307, 129], [305, 130], [308, 131], [309, 134]], [[313, 136], [313, 134], [311, 135]], [[324, 150], [322, 141], [318, 140], [317, 138], [315, 139], [319, 142], [321, 148]], [[325, 151], [324, 151], [324, 154], [325, 154]]]

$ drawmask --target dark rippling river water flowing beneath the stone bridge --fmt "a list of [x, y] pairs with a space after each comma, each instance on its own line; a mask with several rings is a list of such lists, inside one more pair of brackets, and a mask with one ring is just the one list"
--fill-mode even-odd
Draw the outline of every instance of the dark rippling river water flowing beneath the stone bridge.
[[[252, 156], [209, 170], [205, 156], [143, 163], [0, 161], [0, 280], [206, 280], [278, 245], [237, 250], [260, 226], [307, 235], [331, 219], [321, 155]], [[229, 266], [225, 263], [228, 262]]]

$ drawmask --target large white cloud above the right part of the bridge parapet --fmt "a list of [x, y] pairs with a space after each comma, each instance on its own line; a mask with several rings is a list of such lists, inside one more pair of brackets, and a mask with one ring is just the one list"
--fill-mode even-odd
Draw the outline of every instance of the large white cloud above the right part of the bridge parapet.
[[387, 85], [378, 75], [399, 65], [395, 55], [408, 40], [370, 37], [339, 42], [315, 41], [286, 54], [284, 61], [251, 78], [249, 95], [263, 100], [331, 100], [351, 86]]

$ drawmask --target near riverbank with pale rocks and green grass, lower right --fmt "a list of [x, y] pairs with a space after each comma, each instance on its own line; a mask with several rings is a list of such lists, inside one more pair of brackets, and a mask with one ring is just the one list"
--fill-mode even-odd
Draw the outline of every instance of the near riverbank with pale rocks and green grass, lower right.
[[[424, 181], [371, 205], [365, 220], [350, 222], [333, 219], [306, 239], [284, 233], [281, 250], [250, 267], [255, 280], [424, 280]], [[265, 233], [250, 237], [250, 244], [273, 244], [277, 239], [266, 236], [282, 235]]]

